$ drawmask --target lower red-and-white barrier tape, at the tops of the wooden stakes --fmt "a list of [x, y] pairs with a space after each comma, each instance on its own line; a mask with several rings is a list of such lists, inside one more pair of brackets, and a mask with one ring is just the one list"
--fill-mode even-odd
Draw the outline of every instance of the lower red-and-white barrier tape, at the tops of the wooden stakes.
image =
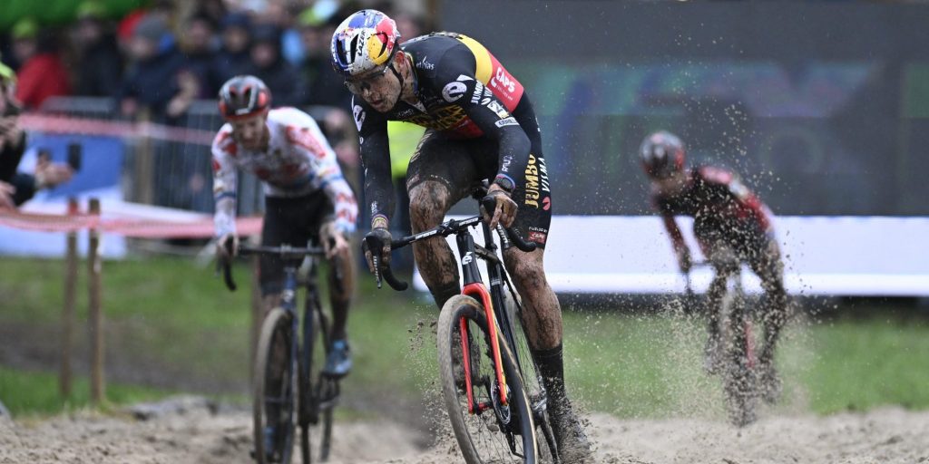
[[[257, 235], [261, 232], [261, 217], [236, 219], [239, 235]], [[214, 236], [213, 219], [203, 217], [196, 221], [164, 221], [156, 219], [101, 218], [90, 214], [38, 214], [3, 212], [0, 226], [36, 232], [74, 232], [96, 228], [100, 232], [131, 238], [211, 238]]]

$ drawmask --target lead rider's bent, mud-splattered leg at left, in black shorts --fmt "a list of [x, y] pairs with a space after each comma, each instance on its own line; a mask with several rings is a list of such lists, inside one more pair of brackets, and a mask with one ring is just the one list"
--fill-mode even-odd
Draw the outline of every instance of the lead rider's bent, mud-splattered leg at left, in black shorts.
[[[468, 145], [467, 141], [451, 140], [435, 131], [425, 131], [407, 169], [413, 233], [441, 224], [451, 206], [467, 196], [471, 186], [479, 180]], [[412, 251], [425, 285], [439, 308], [461, 293], [458, 264], [445, 238], [417, 241]]]

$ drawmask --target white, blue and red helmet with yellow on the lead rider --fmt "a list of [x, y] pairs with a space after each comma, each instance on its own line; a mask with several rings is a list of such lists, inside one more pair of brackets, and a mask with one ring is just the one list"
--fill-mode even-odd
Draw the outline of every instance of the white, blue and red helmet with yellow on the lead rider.
[[333, 68], [345, 77], [384, 72], [399, 49], [397, 23], [376, 9], [362, 9], [333, 33]]

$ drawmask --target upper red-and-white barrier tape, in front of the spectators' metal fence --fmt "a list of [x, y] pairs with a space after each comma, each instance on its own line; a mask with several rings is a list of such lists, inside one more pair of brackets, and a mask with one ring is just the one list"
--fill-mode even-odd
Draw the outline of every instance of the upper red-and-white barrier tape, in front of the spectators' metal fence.
[[[172, 127], [153, 122], [122, 122], [72, 118], [30, 113], [20, 116], [20, 127], [48, 134], [102, 135], [112, 137], [149, 137], [196, 145], [211, 145], [216, 135], [210, 131]], [[216, 128], [218, 130], [218, 127]]]

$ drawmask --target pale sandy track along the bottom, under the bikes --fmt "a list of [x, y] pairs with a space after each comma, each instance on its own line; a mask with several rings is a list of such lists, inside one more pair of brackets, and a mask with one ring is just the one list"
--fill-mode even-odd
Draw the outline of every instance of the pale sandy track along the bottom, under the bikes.
[[[929, 463], [929, 412], [776, 417], [742, 431], [706, 419], [589, 418], [603, 463]], [[190, 408], [150, 420], [78, 413], [37, 423], [0, 419], [0, 463], [249, 463], [245, 412]], [[418, 432], [388, 422], [336, 425], [335, 464], [451, 464], [447, 438], [419, 449]]]

